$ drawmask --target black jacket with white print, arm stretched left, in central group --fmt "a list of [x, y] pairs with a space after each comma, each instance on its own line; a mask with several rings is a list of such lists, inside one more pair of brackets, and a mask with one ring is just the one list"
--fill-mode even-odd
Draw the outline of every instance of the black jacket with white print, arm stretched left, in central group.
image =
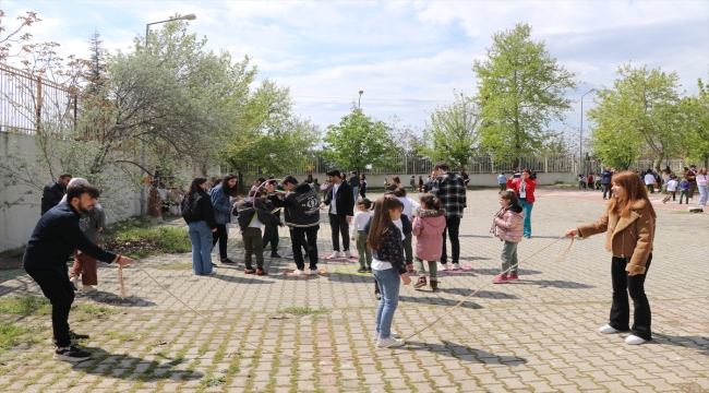
[[[351, 189], [350, 189], [351, 190]], [[350, 196], [352, 192], [350, 191]], [[307, 182], [293, 187], [285, 196], [268, 196], [276, 207], [286, 207], [285, 224], [289, 227], [313, 227], [320, 224], [317, 191]]]

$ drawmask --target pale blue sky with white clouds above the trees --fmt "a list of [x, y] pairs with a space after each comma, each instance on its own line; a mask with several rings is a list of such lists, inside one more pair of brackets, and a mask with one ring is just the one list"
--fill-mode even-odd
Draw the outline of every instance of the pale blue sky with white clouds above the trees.
[[[11, 1], [5, 21], [32, 10], [44, 22], [31, 32], [88, 56], [98, 29], [109, 50], [127, 49], [145, 24], [175, 13], [197, 15], [190, 31], [215, 50], [248, 55], [268, 78], [290, 86], [296, 110], [326, 127], [361, 106], [382, 120], [423, 127], [428, 112], [474, 94], [474, 59], [491, 35], [526, 22], [552, 56], [580, 72], [577, 99], [610, 86], [618, 66], [676, 71], [683, 88], [709, 74], [709, 1]], [[592, 94], [584, 100], [592, 106]], [[578, 127], [579, 105], [568, 112]], [[563, 128], [556, 124], [557, 128]], [[563, 131], [563, 130], [558, 130]]]

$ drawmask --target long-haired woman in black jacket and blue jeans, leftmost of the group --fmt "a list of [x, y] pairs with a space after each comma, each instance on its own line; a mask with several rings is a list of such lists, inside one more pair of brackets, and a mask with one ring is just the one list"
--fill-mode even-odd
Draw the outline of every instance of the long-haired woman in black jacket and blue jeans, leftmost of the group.
[[192, 241], [192, 269], [196, 275], [214, 274], [212, 234], [217, 230], [217, 222], [214, 219], [207, 186], [207, 178], [194, 178], [182, 200], [182, 218], [188, 223]]

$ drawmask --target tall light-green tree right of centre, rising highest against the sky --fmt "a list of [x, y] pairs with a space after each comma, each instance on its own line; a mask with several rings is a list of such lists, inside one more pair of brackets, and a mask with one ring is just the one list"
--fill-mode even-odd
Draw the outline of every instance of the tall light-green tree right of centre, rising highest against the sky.
[[520, 154], [538, 151], [553, 136], [551, 122], [564, 121], [570, 109], [566, 90], [577, 88], [577, 73], [530, 35], [528, 24], [493, 34], [486, 59], [472, 67], [479, 80], [474, 100], [482, 106], [481, 145], [498, 159], [512, 155], [515, 166]]

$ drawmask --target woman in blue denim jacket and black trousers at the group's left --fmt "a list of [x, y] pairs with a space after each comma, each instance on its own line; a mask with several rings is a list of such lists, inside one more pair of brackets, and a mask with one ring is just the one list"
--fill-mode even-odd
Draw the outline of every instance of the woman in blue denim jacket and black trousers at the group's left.
[[216, 236], [212, 240], [212, 247], [219, 241], [219, 258], [221, 263], [236, 263], [227, 255], [227, 225], [231, 223], [231, 201], [230, 198], [239, 196], [237, 182], [239, 177], [235, 174], [227, 174], [218, 186], [212, 188], [212, 205], [214, 206], [214, 218], [217, 222]]

